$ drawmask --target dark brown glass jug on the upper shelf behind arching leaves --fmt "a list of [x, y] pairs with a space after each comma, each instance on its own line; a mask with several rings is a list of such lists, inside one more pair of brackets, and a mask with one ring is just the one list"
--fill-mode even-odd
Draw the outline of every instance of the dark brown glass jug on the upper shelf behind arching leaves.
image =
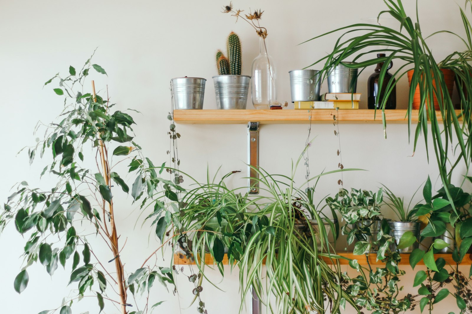
[[[385, 57], [385, 54], [379, 53], [377, 54], [378, 58]], [[390, 62], [387, 68], [387, 72], [385, 72], [384, 80], [382, 82], [382, 88], [379, 87], [379, 75], [380, 70], [382, 69], [383, 62], [377, 64], [375, 68], [375, 72], [371, 74], [369, 77], [369, 81], [367, 81], [367, 108], [369, 109], [381, 109], [382, 99], [385, 95], [387, 90], [388, 82], [392, 81], [392, 84], [395, 83], [395, 78], [388, 73], [388, 70], [392, 68], [393, 62]], [[379, 104], [376, 107], [376, 102], [379, 101]], [[387, 103], [385, 104], [385, 109], [395, 109], [396, 108], [396, 86], [392, 89], [390, 95], [388, 95]]]

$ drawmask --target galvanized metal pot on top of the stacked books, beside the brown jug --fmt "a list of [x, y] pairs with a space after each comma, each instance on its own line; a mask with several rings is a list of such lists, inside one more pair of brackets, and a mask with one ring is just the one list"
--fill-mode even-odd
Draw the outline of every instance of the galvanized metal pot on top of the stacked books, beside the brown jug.
[[[354, 64], [354, 62], [344, 62]], [[350, 69], [338, 64], [328, 72], [328, 90], [330, 93], [355, 93], [357, 89], [357, 69]]]

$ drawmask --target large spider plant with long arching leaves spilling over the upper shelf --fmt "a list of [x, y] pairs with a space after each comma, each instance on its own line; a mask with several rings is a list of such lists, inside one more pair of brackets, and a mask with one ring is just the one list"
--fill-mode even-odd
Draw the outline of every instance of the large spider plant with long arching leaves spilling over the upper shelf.
[[[466, 5], [469, 1], [471, 0], [467, 0]], [[343, 32], [337, 40], [333, 51], [312, 65], [324, 62], [324, 66], [320, 71], [320, 80], [324, 80], [327, 78], [331, 68], [340, 63], [347, 67], [364, 69], [367, 66], [383, 62], [384, 66], [379, 74], [379, 86], [383, 86], [382, 84], [390, 62], [393, 59], [401, 60], [397, 64], [402, 65], [394, 73], [396, 80], [390, 80], [385, 87], [385, 91], [379, 91], [380, 95], [383, 94], [384, 96], [382, 99], [377, 100], [378, 103], [376, 105], [380, 105], [381, 108], [384, 133], [386, 130], [385, 105], [388, 97], [397, 82], [400, 81], [399, 79], [409, 70], [414, 70], [406, 113], [410, 138], [412, 117], [418, 115], [419, 120], [416, 127], [414, 127], [413, 154], [421, 134], [423, 134], [428, 152], [427, 135], [430, 133], [433, 139], [439, 174], [443, 186], [446, 187], [447, 198], [453, 204], [453, 198], [447, 189], [448, 183], [450, 183], [451, 171], [461, 161], [465, 163], [468, 169], [472, 156], [472, 145], [469, 137], [471, 126], [470, 104], [472, 101], [472, 78], [470, 75], [472, 73], [472, 66], [469, 64], [472, 61], [471, 24], [461, 9], [461, 17], [467, 34], [467, 41], [463, 40], [465, 44], [464, 51], [453, 52], [446, 59], [438, 62], [427, 44], [427, 39], [430, 36], [425, 36], [421, 31], [418, 8], [416, 8], [416, 21], [414, 21], [410, 16], [407, 16], [401, 0], [384, 0], [384, 2], [387, 9], [380, 12], [379, 17], [383, 15], [393, 17], [398, 21], [398, 29], [382, 25], [353, 24], [316, 36], [310, 40], [315, 40], [334, 32]], [[449, 33], [457, 36], [453, 32]], [[365, 56], [375, 56], [378, 52], [386, 52], [387, 56], [360, 61], [365, 59]], [[354, 63], [344, 63], [345, 61], [354, 61]], [[459, 114], [455, 113], [441, 68], [452, 70], [457, 80], [464, 86], [464, 91], [460, 90], [462, 112]], [[418, 111], [413, 111], [413, 96], [417, 85], [419, 85], [421, 105]], [[442, 123], [438, 120], [434, 110], [434, 96], [438, 99], [438, 115], [441, 117]], [[459, 121], [461, 116], [462, 121]], [[455, 160], [449, 161], [449, 157], [451, 157], [449, 153], [451, 150], [450, 145], [452, 145], [454, 140], [457, 142], [458, 154], [452, 157], [456, 158]], [[428, 160], [429, 158], [428, 155]], [[449, 166], [448, 163], [450, 163]], [[454, 208], [454, 206], [452, 207]]]

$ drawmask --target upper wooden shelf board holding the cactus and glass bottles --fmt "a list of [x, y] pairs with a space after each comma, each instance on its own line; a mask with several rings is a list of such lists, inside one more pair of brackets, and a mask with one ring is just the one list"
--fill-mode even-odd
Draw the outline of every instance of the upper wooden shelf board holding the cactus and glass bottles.
[[[460, 110], [456, 110], [460, 114]], [[301, 124], [333, 123], [333, 115], [338, 121], [345, 123], [382, 123], [382, 112], [371, 109], [283, 109], [283, 110], [174, 110], [174, 121], [186, 124], [247, 124], [260, 122], [261, 124]], [[438, 120], [441, 114], [436, 112]], [[406, 110], [385, 110], [387, 123], [408, 123]], [[413, 110], [412, 123], [418, 122], [418, 110]]]

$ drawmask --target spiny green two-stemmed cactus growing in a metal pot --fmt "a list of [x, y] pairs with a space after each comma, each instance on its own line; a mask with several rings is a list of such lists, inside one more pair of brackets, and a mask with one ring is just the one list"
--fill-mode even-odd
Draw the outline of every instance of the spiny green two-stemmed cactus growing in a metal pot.
[[221, 50], [216, 53], [216, 65], [219, 75], [241, 75], [241, 41], [236, 33], [231, 32], [228, 36], [228, 58]]

